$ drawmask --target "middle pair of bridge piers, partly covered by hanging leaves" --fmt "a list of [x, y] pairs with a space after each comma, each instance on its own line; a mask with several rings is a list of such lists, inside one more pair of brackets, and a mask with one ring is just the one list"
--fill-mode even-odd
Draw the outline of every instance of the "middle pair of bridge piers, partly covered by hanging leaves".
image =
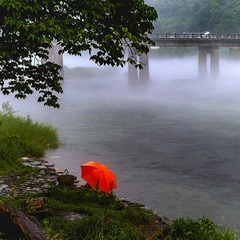
[[128, 82], [130, 85], [136, 85], [138, 82], [149, 80], [149, 61], [147, 54], [136, 55], [132, 49], [128, 49], [128, 57], [135, 58], [143, 64], [143, 69], [138, 69], [131, 63], [128, 63]]

